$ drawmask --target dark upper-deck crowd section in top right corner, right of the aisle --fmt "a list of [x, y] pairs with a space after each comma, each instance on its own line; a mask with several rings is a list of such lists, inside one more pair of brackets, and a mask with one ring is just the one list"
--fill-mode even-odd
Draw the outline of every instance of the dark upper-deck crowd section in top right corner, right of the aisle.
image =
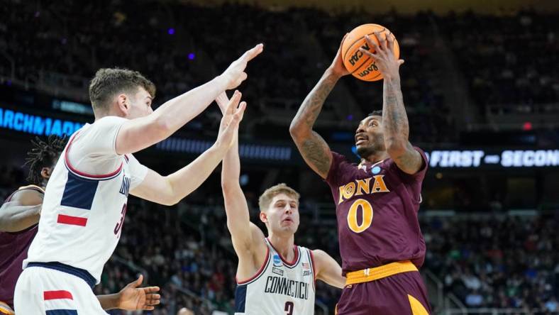
[[497, 104], [505, 105], [501, 111], [525, 114], [559, 111], [558, 21], [533, 11], [438, 19], [480, 110]]

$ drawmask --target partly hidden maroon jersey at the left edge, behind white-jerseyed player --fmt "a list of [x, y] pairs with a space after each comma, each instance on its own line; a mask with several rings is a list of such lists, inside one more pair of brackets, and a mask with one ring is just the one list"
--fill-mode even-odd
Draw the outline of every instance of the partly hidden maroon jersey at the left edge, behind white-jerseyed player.
[[[24, 187], [44, 193], [38, 187]], [[11, 195], [13, 196], [13, 194]], [[5, 203], [10, 201], [6, 198]], [[23, 231], [9, 233], [0, 232], [0, 301], [6, 302], [13, 309], [13, 292], [16, 282], [23, 271], [21, 264], [27, 258], [27, 250], [37, 234], [38, 224]]]

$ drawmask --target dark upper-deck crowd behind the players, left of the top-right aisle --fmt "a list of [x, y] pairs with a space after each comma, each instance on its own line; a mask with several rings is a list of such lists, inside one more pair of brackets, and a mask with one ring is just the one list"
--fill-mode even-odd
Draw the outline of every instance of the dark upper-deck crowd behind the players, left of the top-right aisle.
[[[162, 1], [131, 6], [114, 0], [87, 4], [11, 0], [0, 14], [5, 17], [0, 21], [0, 50], [9, 56], [0, 62], [4, 77], [11, 77], [13, 65], [13, 77], [26, 84], [50, 82], [84, 89], [99, 67], [129, 67], [155, 82], [158, 104], [220, 74], [246, 48], [265, 43], [265, 54], [248, 69], [253, 79], [240, 87], [252, 105], [246, 120], [253, 118], [253, 123], [245, 128], [263, 138], [277, 136], [265, 120], [268, 116], [284, 117], [275, 123], [287, 126], [331, 63], [343, 35], [375, 21], [397, 35], [406, 59], [402, 90], [414, 140], [456, 138], [437, 80], [433, 39], [424, 35], [432, 28], [427, 13], [331, 15], [318, 9], [268, 11], [239, 4], [215, 9]], [[351, 78], [339, 85], [345, 94], [327, 101], [323, 110], [323, 119], [333, 121], [330, 128], [353, 131], [361, 118], [358, 112], [364, 115], [382, 107], [382, 84]], [[215, 121], [213, 111], [199, 118], [201, 125]], [[284, 131], [281, 136], [289, 138], [287, 128]]]

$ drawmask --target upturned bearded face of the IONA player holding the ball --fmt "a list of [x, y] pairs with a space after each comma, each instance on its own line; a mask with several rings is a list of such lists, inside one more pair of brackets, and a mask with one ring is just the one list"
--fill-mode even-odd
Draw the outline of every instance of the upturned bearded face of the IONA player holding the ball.
[[355, 131], [355, 146], [361, 157], [385, 150], [382, 116], [368, 116], [359, 123]]

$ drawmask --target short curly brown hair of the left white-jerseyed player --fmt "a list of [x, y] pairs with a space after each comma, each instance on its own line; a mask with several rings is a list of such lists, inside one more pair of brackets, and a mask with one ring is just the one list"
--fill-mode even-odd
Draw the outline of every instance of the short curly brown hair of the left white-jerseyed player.
[[106, 109], [111, 98], [119, 92], [131, 92], [143, 87], [150, 96], [155, 97], [155, 84], [140, 72], [121, 68], [102, 68], [97, 70], [89, 83], [89, 100], [93, 109]]

